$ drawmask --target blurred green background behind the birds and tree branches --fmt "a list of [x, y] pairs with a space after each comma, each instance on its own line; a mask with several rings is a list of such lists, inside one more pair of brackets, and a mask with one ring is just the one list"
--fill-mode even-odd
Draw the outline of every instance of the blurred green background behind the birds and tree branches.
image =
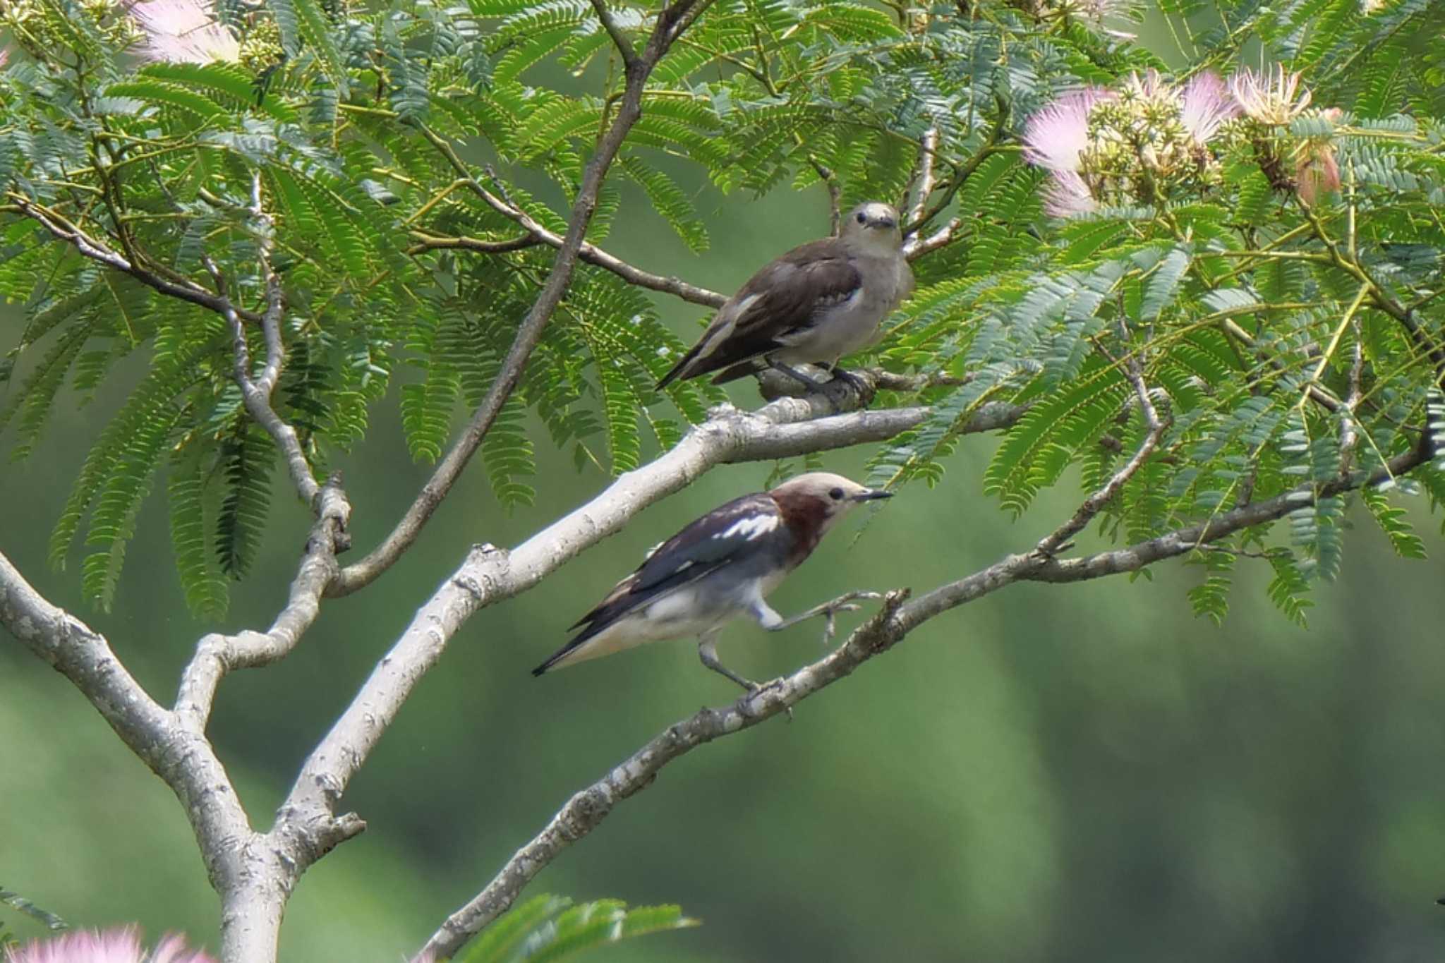
[[[734, 290], [827, 230], [821, 192], [701, 192], [705, 257], [642, 204], [608, 247]], [[704, 312], [659, 299], [678, 331]], [[13, 347], [13, 315], [0, 351]], [[143, 358], [134, 358], [139, 375]], [[17, 378], [19, 380], [19, 378]], [[13, 384], [13, 383], [12, 383]], [[53, 602], [103, 629], [162, 702], [205, 631], [264, 627], [306, 515], [277, 474], [263, 560], [221, 627], [195, 622], [156, 494], [117, 608], [81, 602], [45, 543], [74, 472], [126, 384], [61, 410], [26, 462], [0, 466], [3, 550]], [[14, 390], [14, 388], [12, 388]], [[751, 383], [734, 401], [759, 403]], [[393, 385], [389, 403], [394, 403]], [[928, 589], [1033, 544], [1068, 487], [1012, 521], [980, 494], [993, 449], [971, 437], [936, 489], [851, 520], [775, 596], [795, 612], [842, 591]], [[503, 514], [477, 466], [374, 588], [329, 602], [285, 663], [233, 676], [211, 733], [257, 826], [416, 605], [473, 541], [516, 544], [607, 479], [539, 445], [536, 505]], [[829, 453], [861, 474], [866, 450]], [[429, 474], [392, 413], [340, 459], [360, 550]], [[543, 679], [566, 625], [696, 514], [763, 485], [718, 469], [649, 508], [530, 593], [467, 624], [347, 794], [368, 830], [302, 881], [285, 960], [396, 960], [475, 892], [577, 788], [701, 705], [734, 697], [695, 647], [646, 647]], [[1435, 550], [1439, 518], [1413, 513]], [[1445, 956], [1445, 566], [1393, 557], [1366, 515], [1308, 631], [1241, 559], [1222, 628], [1189, 615], [1199, 569], [1152, 582], [1020, 585], [948, 614], [798, 709], [705, 746], [621, 804], [529, 892], [679, 902], [705, 925], [594, 959], [1312, 960]], [[1436, 556], [1439, 553], [1436, 552]], [[847, 625], [855, 622], [847, 621]], [[819, 628], [738, 624], [724, 658], [766, 679], [819, 654]], [[69, 683], [0, 640], [0, 885], [77, 924], [139, 921], [215, 946], [217, 905], [181, 807]], [[38, 927], [0, 914], [22, 936]]]

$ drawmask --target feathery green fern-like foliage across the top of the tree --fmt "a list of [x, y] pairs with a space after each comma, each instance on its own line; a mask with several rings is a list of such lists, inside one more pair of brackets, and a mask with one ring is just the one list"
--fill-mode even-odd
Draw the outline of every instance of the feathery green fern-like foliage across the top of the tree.
[[[64, 393], [104, 397], [113, 413], [52, 560], [81, 541], [87, 592], [107, 603], [163, 474], [186, 596], [217, 614], [254, 559], [277, 452], [241, 404], [223, 319], [150, 282], [215, 290], [210, 261], [217, 293], [254, 316], [269, 250], [286, 302], [273, 404], [314, 469], [366, 436], [393, 381], [412, 455], [436, 459], [552, 261], [519, 212], [565, 231], [623, 65], [581, 0], [237, 7], [241, 27], [273, 22], [282, 38], [285, 56], [260, 66], [144, 64], [94, 4], [36, 6], [79, 39], [45, 48], [16, 35], [0, 74], [0, 297], [25, 315], [0, 364], [16, 381], [0, 430], [25, 458]], [[644, 43], [656, 4], [608, 10]], [[920, 227], [957, 218], [957, 230], [915, 263], [919, 289], [887, 338], [854, 360], [925, 375], [920, 398], [880, 403], [922, 400], [931, 416], [874, 453], [871, 481], [938, 484], [965, 420], [1010, 401], [1027, 414], [985, 491], [1019, 514], [1065, 479], [1097, 489], [1146, 433], [1127, 377], [1137, 367], [1168, 430], [1105, 505], [1100, 534], [1149, 539], [1293, 492], [1300, 507], [1277, 533], [1201, 550], [1192, 598], [1222, 618], [1233, 560], [1259, 556], [1299, 619], [1312, 582], [1340, 566], [1350, 497], [1327, 491], [1387, 472], [1445, 424], [1431, 407], [1445, 358], [1445, 61], [1429, 40], [1445, 13], [1428, 0], [1168, 0], [1160, 12], [1189, 71], [1228, 72], [1246, 45], [1302, 71], [1315, 105], [1341, 113], [1276, 134], [1328, 141], [1341, 191], [1311, 208], [1238, 141], [1189, 196], [1051, 221], [1020, 150], [1027, 117], [1064, 91], [1162, 66], [1153, 52], [1090, 30], [1068, 4], [720, 0], [649, 81], [588, 241], [633, 228], [627, 201], [707, 251], [699, 199], [712, 191], [827, 185], [844, 205], [907, 209], [936, 133]], [[56, 225], [136, 270], [87, 258]], [[262, 332], [244, 332], [259, 365]], [[497, 500], [529, 502], [539, 446], [621, 472], [702, 420], [722, 397], [711, 385], [652, 387], [683, 347], [650, 296], [584, 266], [481, 450]], [[139, 375], [124, 364], [137, 354]], [[1438, 465], [1416, 479], [1445, 495]], [[1418, 556], [1392, 501], [1416, 485], [1389, 481], [1360, 501]]]

